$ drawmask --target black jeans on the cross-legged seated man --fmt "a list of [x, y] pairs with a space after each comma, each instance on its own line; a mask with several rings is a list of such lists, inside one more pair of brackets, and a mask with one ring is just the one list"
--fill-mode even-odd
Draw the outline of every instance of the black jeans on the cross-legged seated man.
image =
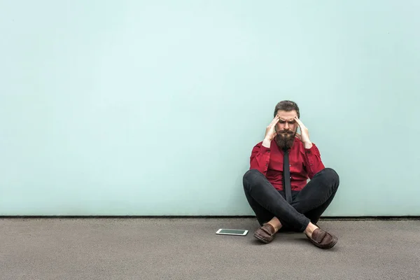
[[302, 190], [292, 191], [291, 204], [286, 202], [284, 190], [276, 190], [256, 169], [244, 174], [243, 183], [246, 200], [260, 225], [275, 216], [283, 225], [283, 230], [303, 232], [309, 221], [318, 222], [332, 202], [339, 186], [339, 176], [334, 169], [321, 170]]

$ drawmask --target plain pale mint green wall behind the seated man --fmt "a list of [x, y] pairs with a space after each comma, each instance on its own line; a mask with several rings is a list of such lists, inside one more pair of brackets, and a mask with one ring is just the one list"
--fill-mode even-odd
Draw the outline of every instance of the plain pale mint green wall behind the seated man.
[[419, 1], [0, 1], [0, 215], [252, 215], [293, 99], [325, 216], [420, 215]]

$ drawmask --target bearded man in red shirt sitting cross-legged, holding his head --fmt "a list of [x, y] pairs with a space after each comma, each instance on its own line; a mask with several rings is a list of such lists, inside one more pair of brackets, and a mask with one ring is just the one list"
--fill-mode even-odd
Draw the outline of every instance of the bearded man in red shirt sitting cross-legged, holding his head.
[[[307, 179], [311, 179], [309, 183]], [[324, 167], [295, 102], [286, 100], [276, 105], [264, 140], [253, 147], [251, 168], [244, 174], [243, 183], [246, 199], [262, 225], [253, 235], [258, 240], [269, 243], [282, 229], [304, 232], [319, 248], [332, 248], [337, 243], [337, 237], [316, 223], [337, 192], [339, 176]]]

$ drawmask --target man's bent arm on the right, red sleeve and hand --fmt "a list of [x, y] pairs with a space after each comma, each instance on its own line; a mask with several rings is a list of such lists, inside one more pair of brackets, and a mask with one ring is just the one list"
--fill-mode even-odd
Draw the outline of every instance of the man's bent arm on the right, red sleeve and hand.
[[296, 137], [302, 141], [304, 145], [304, 160], [307, 167], [309, 179], [312, 179], [315, 174], [325, 168], [321, 160], [321, 153], [319, 153], [318, 147], [309, 139], [309, 130], [304, 126], [299, 118], [295, 117], [297, 124], [300, 127], [300, 133], [296, 133]]

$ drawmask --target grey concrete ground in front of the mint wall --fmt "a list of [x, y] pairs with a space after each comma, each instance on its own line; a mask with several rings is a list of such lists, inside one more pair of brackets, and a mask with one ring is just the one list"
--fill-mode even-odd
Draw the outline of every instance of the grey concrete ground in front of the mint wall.
[[318, 225], [334, 248], [290, 232], [260, 244], [253, 218], [5, 218], [0, 279], [420, 279], [420, 221]]

